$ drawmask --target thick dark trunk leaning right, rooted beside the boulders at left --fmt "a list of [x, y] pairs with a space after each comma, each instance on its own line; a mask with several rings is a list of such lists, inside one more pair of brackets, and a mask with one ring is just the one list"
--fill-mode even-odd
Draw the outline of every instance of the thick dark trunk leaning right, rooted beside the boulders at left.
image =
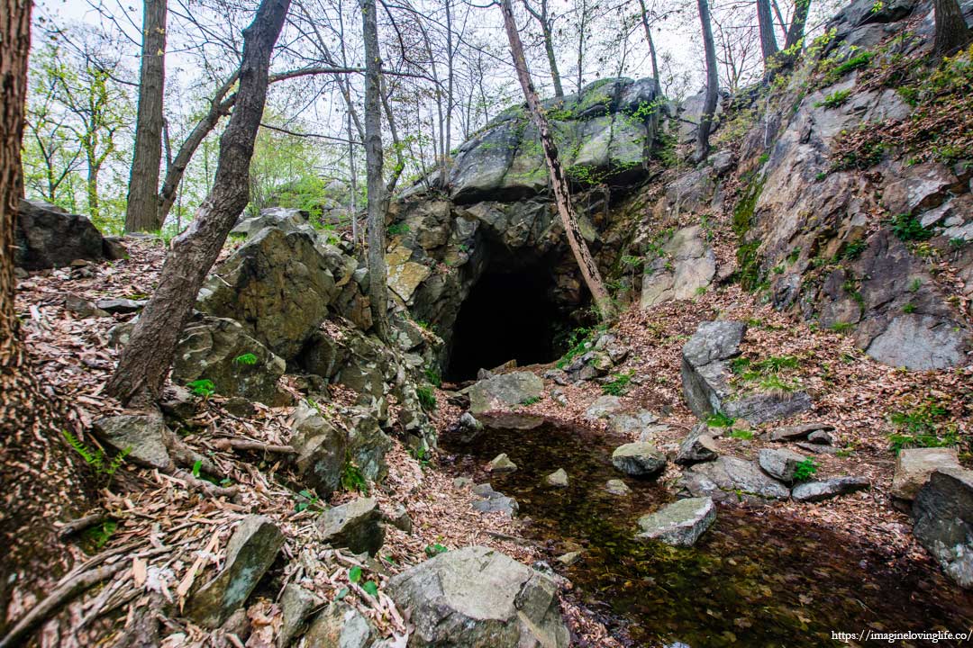
[[213, 188], [196, 219], [172, 242], [159, 288], [131, 332], [108, 389], [124, 403], [158, 398], [176, 342], [193, 310], [206, 273], [249, 201], [250, 158], [267, 99], [270, 52], [287, 16], [290, 0], [263, 0], [243, 30], [239, 89], [230, 123], [220, 138]]

